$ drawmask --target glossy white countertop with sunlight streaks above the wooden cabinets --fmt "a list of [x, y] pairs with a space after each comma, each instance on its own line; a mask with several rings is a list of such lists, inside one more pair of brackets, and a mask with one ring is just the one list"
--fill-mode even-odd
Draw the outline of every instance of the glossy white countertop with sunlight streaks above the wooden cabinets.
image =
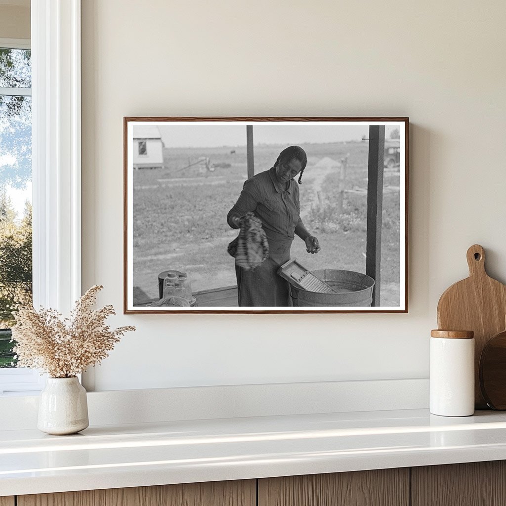
[[506, 413], [426, 409], [0, 431], [0, 496], [506, 459]]

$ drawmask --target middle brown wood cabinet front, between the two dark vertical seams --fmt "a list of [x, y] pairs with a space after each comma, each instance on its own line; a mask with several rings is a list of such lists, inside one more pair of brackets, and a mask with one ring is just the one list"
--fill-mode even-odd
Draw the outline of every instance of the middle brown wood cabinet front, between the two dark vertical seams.
[[258, 504], [408, 506], [409, 469], [265, 478], [259, 480]]

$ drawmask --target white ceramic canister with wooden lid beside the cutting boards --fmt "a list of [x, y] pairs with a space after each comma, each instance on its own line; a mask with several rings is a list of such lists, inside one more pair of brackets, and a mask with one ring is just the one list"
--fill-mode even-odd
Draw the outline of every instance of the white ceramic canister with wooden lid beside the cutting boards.
[[475, 340], [472, 330], [431, 330], [430, 411], [470, 416], [475, 406]]

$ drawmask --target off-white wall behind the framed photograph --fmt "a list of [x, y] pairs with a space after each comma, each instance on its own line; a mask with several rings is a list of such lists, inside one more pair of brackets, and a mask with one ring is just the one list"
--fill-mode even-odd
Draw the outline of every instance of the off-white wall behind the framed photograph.
[[411, 120], [409, 314], [120, 315], [138, 330], [96, 389], [427, 376], [467, 248], [506, 281], [505, 18], [479, 0], [82, 0], [83, 287], [119, 313], [123, 116]]

